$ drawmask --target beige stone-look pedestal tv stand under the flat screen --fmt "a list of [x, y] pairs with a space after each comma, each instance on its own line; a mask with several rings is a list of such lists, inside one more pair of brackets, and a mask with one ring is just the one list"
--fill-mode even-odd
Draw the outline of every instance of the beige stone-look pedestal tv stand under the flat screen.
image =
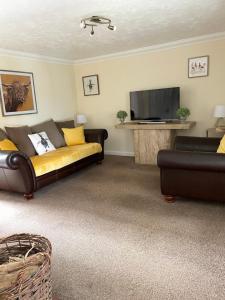
[[188, 130], [196, 122], [138, 123], [127, 122], [116, 125], [118, 129], [130, 129], [134, 132], [135, 163], [155, 165], [161, 149], [171, 149], [176, 130]]

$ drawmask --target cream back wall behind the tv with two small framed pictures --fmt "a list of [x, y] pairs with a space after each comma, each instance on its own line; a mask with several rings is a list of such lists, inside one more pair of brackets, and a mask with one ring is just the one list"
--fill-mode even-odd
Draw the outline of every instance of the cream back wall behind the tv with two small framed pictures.
[[[188, 58], [210, 56], [209, 76], [189, 79]], [[89, 127], [109, 131], [106, 151], [133, 153], [132, 132], [115, 129], [116, 112], [129, 111], [129, 91], [162, 87], [181, 87], [181, 105], [191, 110], [192, 130], [179, 134], [205, 136], [214, 125], [213, 109], [225, 104], [225, 40], [74, 66], [76, 107], [88, 117]], [[100, 95], [83, 95], [82, 76], [99, 75]]]

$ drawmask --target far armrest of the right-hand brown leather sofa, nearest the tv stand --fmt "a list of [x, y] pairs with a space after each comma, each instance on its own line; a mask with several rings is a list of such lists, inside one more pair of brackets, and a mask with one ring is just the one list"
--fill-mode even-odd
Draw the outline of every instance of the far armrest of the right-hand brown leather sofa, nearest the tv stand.
[[216, 152], [220, 138], [176, 136], [174, 149], [195, 152]]

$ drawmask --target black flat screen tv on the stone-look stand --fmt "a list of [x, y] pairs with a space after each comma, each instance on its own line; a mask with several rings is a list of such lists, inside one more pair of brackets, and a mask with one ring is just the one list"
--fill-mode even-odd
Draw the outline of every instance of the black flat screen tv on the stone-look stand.
[[179, 87], [130, 92], [131, 120], [175, 120], [179, 107]]

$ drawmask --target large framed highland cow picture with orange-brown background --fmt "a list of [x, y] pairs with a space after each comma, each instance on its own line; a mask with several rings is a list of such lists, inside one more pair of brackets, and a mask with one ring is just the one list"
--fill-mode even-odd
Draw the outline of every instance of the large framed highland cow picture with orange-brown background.
[[3, 116], [37, 113], [33, 73], [0, 70]]

